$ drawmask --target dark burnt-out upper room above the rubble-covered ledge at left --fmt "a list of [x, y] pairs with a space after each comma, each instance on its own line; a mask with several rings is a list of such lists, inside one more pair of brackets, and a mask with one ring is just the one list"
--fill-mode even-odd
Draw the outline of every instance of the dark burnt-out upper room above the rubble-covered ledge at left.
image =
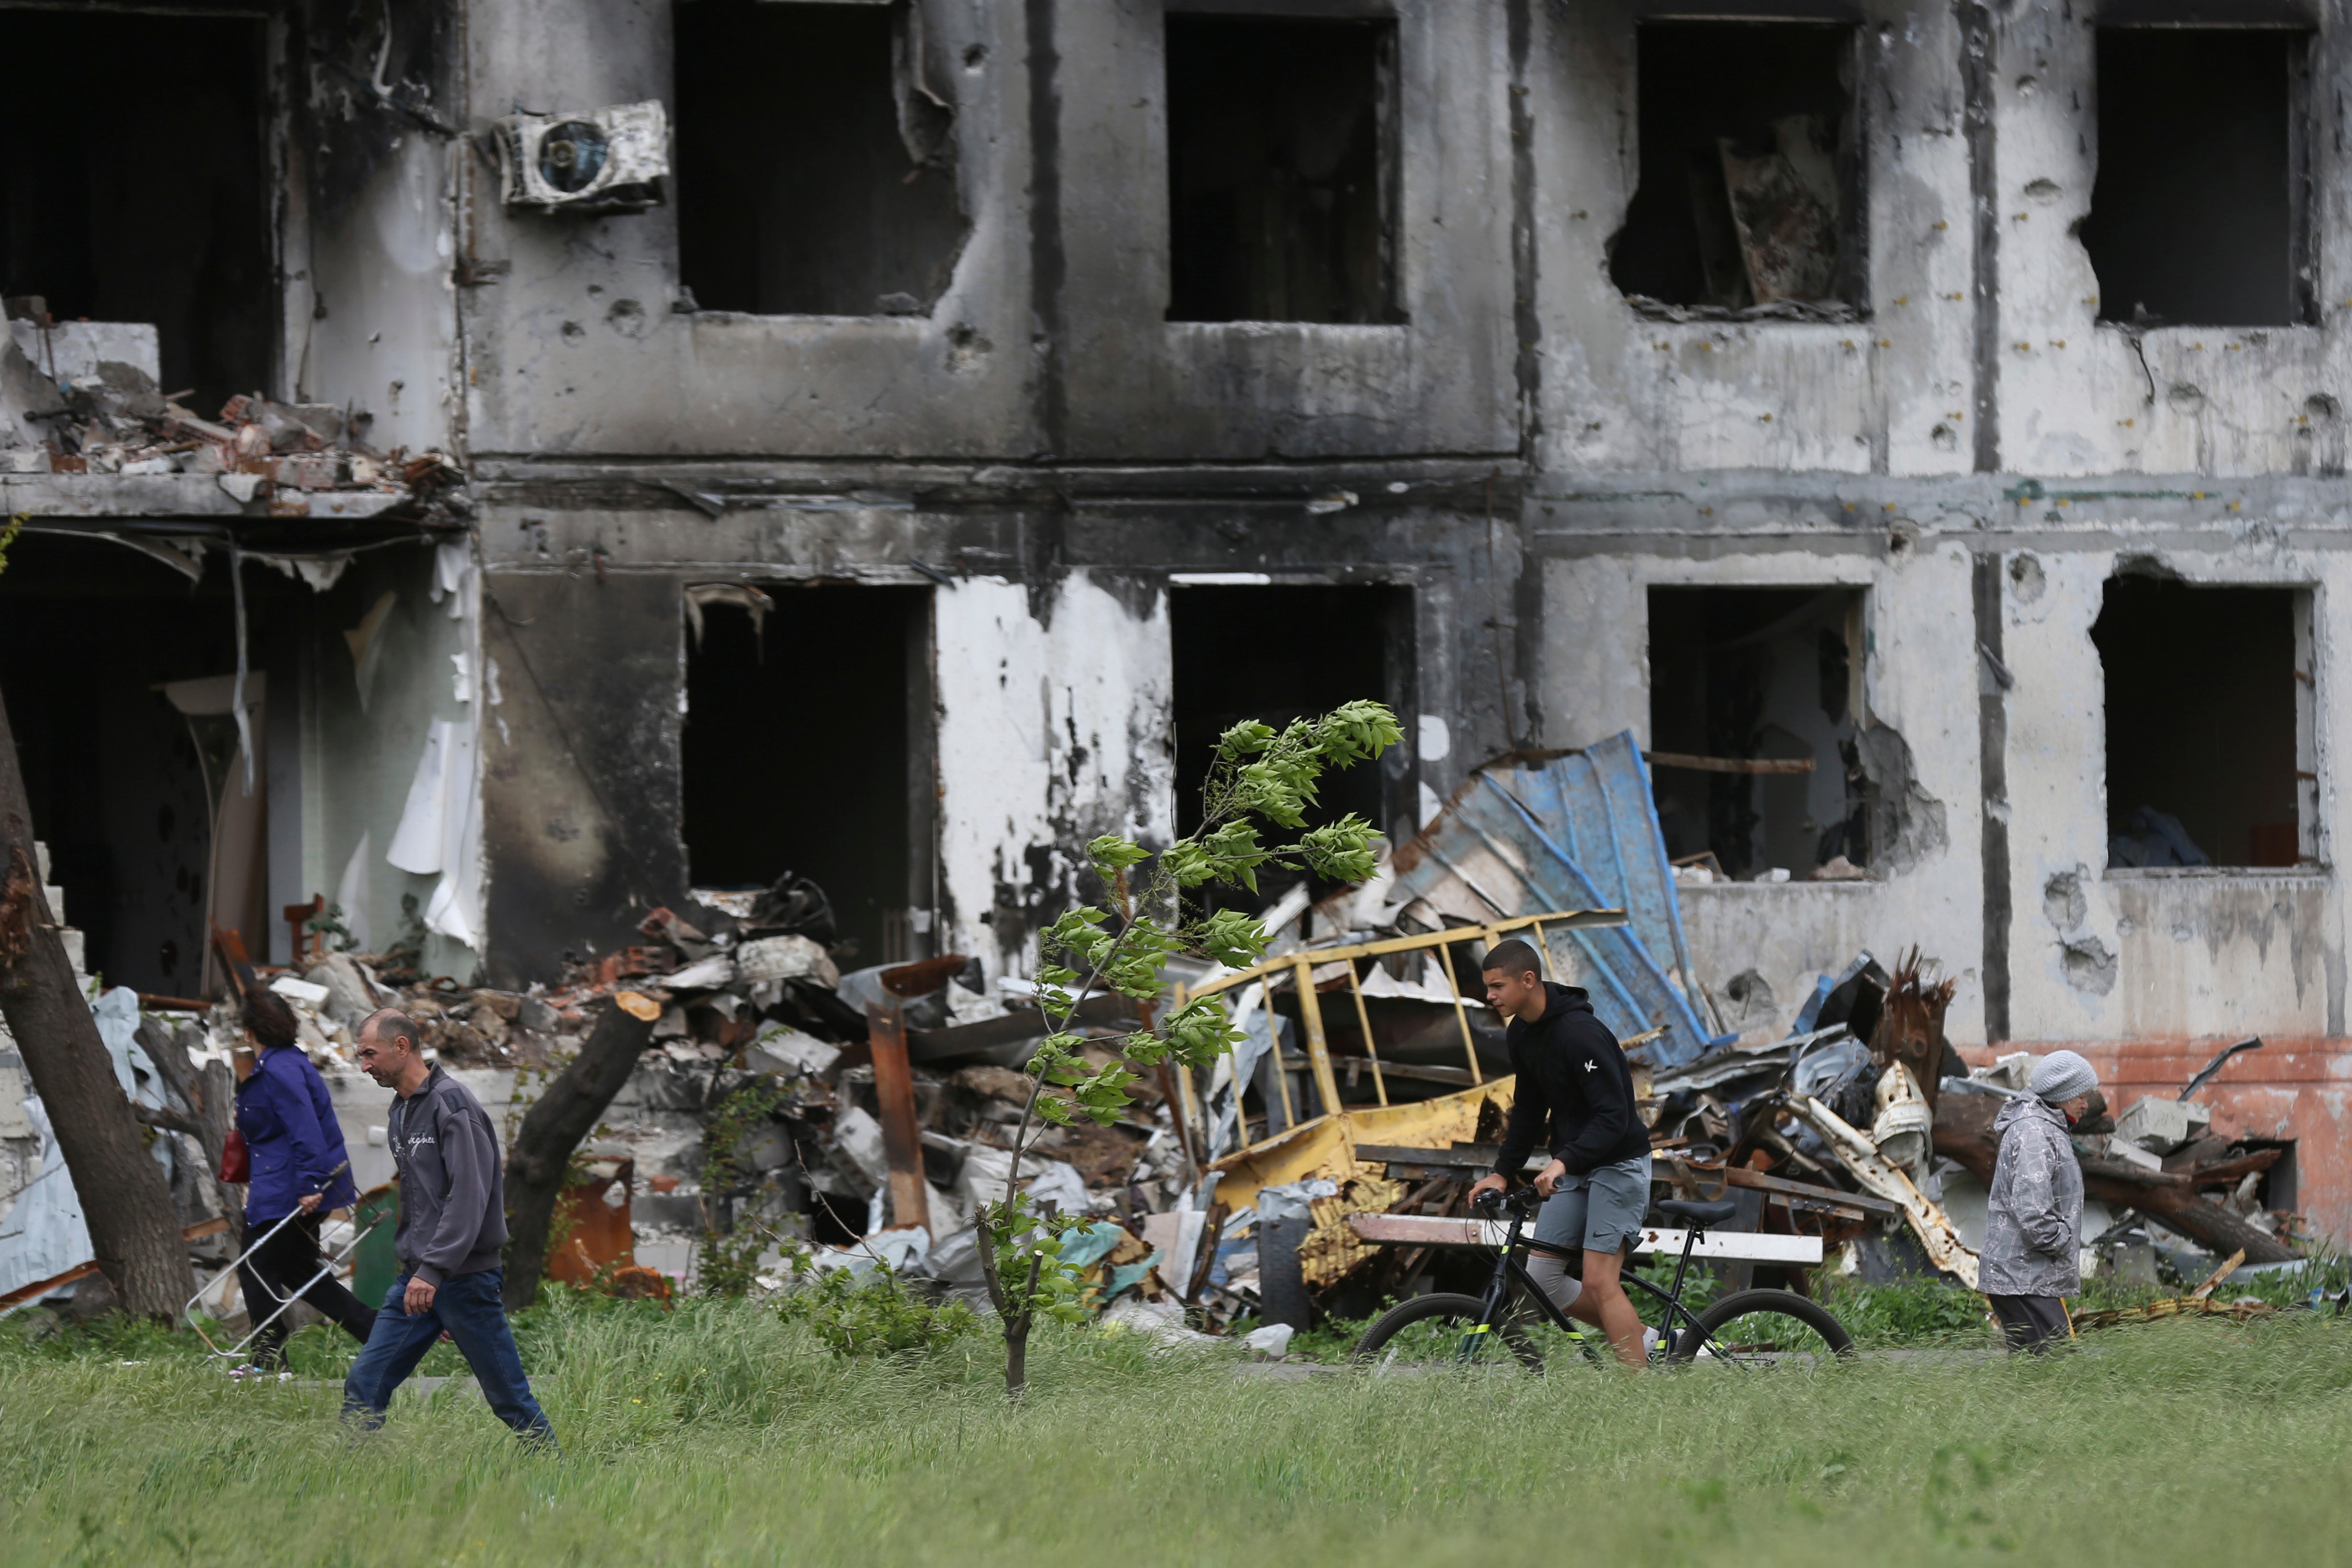
[[193, 390], [200, 411], [268, 386], [261, 19], [9, 9], [7, 47], [19, 63], [103, 61], [106, 87], [78, 68], [14, 73], [0, 294], [54, 320], [153, 322], [160, 390]]

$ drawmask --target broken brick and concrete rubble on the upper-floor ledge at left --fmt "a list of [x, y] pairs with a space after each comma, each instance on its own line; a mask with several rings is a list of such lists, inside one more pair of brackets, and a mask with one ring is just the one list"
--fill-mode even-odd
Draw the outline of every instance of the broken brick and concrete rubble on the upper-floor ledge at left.
[[440, 451], [379, 451], [365, 411], [230, 397], [216, 418], [158, 386], [148, 324], [59, 322], [38, 296], [7, 301], [0, 343], [0, 470], [33, 475], [216, 475], [238, 503], [303, 517], [306, 491], [372, 491], [423, 517], [463, 510], [459, 465]]

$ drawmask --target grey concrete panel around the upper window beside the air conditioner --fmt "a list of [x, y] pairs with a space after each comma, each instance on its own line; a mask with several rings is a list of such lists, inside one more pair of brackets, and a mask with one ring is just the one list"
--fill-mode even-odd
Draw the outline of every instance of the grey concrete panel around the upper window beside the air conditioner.
[[[1030, 456], [1030, 240], [1023, 12], [922, 0], [955, 75], [971, 237], [927, 317], [680, 313], [668, 207], [508, 214], [466, 169], [477, 270], [466, 289], [468, 421], [480, 454]], [[670, 96], [666, 0], [475, 7], [466, 92], [480, 115]]]

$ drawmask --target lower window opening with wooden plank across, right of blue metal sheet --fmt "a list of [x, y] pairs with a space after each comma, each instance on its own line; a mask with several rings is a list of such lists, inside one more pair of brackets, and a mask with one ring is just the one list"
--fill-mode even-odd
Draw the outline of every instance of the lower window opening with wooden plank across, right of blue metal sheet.
[[1649, 590], [1651, 788], [1672, 858], [1712, 853], [1712, 870], [1740, 882], [1773, 870], [1804, 882], [1839, 856], [1870, 865], [1860, 623], [1858, 588]]

